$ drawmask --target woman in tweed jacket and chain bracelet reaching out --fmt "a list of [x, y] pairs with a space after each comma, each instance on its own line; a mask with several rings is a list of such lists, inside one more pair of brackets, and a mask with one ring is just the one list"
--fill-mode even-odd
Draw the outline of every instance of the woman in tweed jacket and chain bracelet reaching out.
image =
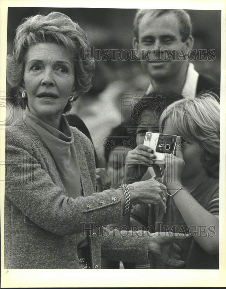
[[182, 266], [173, 238], [99, 234], [130, 203], [159, 204], [164, 211], [166, 193], [148, 181], [94, 193], [94, 149], [62, 115], [91, 86], [94, 61], [81, 49], [87, 45], [79, 25], [59, 12], [27, 18], [16, 30], [7, 79], [26, 110], [6, 130], [4, 266], [100, 268], [101, 254], [131, 261], [147, 259], [148, 251]]

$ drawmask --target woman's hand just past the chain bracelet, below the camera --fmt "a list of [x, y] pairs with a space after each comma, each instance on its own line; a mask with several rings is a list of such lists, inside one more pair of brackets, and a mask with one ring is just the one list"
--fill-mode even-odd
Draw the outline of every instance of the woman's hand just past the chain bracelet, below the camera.
[[167, 188], [154, 179], [140, 181], [128, 186], [130, 189], [131, 203], [145, 203], [159, 205], [166, 212]]

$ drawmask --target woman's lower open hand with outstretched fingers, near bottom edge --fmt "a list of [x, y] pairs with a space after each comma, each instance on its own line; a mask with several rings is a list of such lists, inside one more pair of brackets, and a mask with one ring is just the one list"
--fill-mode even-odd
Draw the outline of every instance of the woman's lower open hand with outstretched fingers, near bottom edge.
[[173, 242], [178, 240], [185, 240], [187, 235], [180, 234], [179, 236], [160, 236], [161, 232], [155, 233], [155, 236], [150, 237], [148, 243], [148, 251], [155, 257], [160, 258], [164, 263], [181, 267], [185, 265], [185, 262], [181, 260], [181, 248]]

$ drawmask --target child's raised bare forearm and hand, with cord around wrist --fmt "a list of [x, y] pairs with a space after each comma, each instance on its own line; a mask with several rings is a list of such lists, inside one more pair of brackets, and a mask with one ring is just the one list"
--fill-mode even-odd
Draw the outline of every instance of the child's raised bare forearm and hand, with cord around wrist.
[[[171, 195], [183, 187], [180, 181], [180, 175], [183, 168], [184, 160], [180, 149], [178, 149], [178, 158], [169, 154], [165, 156], [165, 170], [163, 182]], [[174, 177], [174, 179], [177, 179], [177, 184], [172, 184], [172, 181], [169, 181], [169, 179], [172, 180], [172, 177]], [[177, 205], [186, 225], [188, 227], [191, 226], [189, 228], [190, 233], [192, 233], [192, 236], [194, 236], [195, 240], [199, 243], [203, 250], [205, 250], [209, 254], [218, 253], [218, 217], [214, 216], [206, 209], [204, 209], [187, 190], [184, 190], [184, 188], [178, 191], [171, 198], [173, 198], [175, 204]], [[203, 232], [200, 231], [201, 226]], [[212, 236], [213, 233], [211, 231], [214, 231], [214, 236]]]

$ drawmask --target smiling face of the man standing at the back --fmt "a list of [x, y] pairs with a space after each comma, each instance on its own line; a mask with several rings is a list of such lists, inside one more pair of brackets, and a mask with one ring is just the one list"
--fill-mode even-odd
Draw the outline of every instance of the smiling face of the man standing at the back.
[[[175, 49], [175, 58], [177, 59], [181, 50], [187, 55], [190, 48], [181, 40], [180, 24], [173, 13], [163, 14], [154, 19], [150, 17], [149, 13], [145, 14], [139, 23], [138, 32], [139, 39], [138, 41], [134, 40], [134, 48], [139, 50], [139, 59], [142, 59], [142, 55], [147, 55], [145, 60], [141, 60], [141, 66], [151, 79], [171, 78], [180, 73], [182, 66], [188, 64], [183, 57], [180, 58], [181, 60], [169, 60], [170, 57], [164, 52], [167, 50], [171, 55]], [[157, 46], [161, 47], [161, 50]], [[145, 52], [142, 52], [141, 49]], [[149, 52], [147, 53], [147, 51]]]

